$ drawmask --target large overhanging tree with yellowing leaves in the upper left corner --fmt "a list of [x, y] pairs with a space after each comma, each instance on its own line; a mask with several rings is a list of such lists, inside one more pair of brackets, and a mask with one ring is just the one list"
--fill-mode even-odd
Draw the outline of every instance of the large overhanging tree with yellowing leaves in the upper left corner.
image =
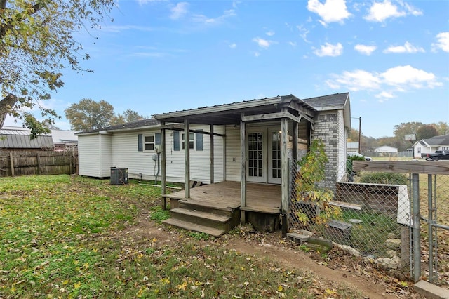
[[[58, 117], [39, 105], [64, 85], [62, 69], [85, 72], [89, 58], [74, 39], [80, 29], [100, 27], [114, 0], [0, 0], [0, 128], [6, 115], [21, 119], [32, 136], [48, 133]], [[39, 106], [38, 121], [27, 112]]]

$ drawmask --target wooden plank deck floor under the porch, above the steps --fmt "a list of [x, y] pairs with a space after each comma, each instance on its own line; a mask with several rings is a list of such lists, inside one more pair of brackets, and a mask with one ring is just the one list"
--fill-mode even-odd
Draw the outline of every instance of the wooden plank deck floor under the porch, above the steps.
[[246, 207], [240, 207], [240, 182], [217, 182], [194, 187], [190, 198], [185, 199], [185, 190], [165, 194], [168, 199], [197, 201], [205, 206], [240, 208], [260, 213], [281, 213], [281, 186], [248, 182], [246, 185]]

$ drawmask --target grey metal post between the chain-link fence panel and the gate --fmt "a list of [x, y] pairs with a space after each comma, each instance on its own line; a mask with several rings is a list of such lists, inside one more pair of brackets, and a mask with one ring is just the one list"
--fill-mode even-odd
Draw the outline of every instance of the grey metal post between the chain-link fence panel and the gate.
[[413, 281], [421, 277], [420, 175], [412, 174], [413, 194]]

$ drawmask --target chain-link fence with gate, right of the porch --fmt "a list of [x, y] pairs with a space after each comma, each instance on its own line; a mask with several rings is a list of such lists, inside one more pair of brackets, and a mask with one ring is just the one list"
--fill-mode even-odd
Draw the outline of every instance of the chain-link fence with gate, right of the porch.
[[[417, 162], [432, 163], [432, 162]], [[292, 161], [288, 227], [290, 232], [315, 235], [333, 242], [349, 253], [387, 270], [398, 278], [413, 272], [413, 196], [410, 174], [354, 172], [348, 161], [344, 180], [335, 188], [304, 190], [313, 177], [304, 178], [297, 161]], [[449, 221], [449, 175], [438, 175], [434, 198], [427, 203], [426, 175], [422, 175], [420, 214], [422, 277], [449, 287], [449, 233], [429, 223], [443, 226]], [[312, 180], [304, 184], [304, 180]], [[321, 199], [318, 199], [321, 197]], [[427, 217], [423, 215], [428, 215]], [[430, 237], [429, 237], [430, 236]], [[429, 242], [430, 241], [430, 242]], [[429, 245], [431, 244], [431, 245]], [[432, 267], [433, 265], [433, 267]], [[433, 273], [433, 274], [431, 274]]]

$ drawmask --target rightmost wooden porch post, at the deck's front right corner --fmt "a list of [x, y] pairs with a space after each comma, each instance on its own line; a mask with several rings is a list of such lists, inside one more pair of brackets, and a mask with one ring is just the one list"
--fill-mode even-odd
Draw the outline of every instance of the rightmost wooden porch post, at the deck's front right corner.
[[[286, 108], [284, 108], [286, 109]], [[281, 213], [288, 211], [288, 119], [281, 119]]]

